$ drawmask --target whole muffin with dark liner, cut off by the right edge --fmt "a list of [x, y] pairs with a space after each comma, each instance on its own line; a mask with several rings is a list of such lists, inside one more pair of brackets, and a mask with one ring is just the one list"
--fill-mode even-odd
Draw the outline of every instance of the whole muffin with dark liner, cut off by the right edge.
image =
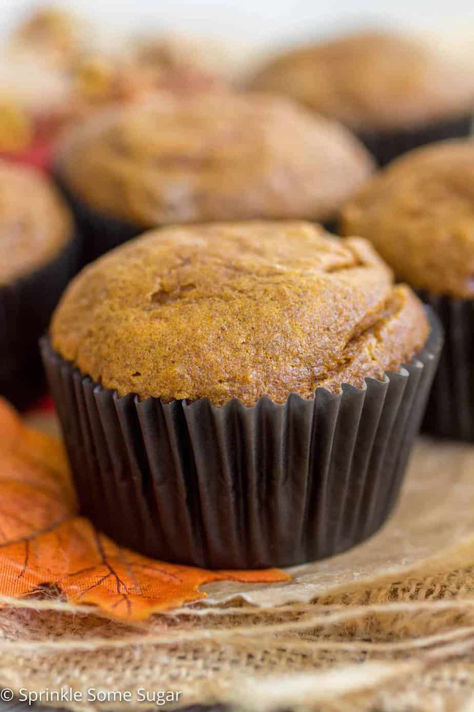
[[345, 206], [341, 225], [370, 239], [438, 311], [447, 340], [426, 428], [474, 440], [474, 142], [397, 159]]

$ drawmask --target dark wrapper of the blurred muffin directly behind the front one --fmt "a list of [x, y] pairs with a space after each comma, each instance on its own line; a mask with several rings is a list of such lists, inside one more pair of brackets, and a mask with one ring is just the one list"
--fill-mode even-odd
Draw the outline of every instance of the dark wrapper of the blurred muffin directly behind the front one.
[[[88, 264], [106, 252], [124, 244], [134, 237], [146, 232], [149, 228], [134, 225], [105, 215], [90, 206], [85, 201], [75, 196], [68, 187], [67, 182], [60, 175], [58, 169], [53, 173], [53, 178], [63, 197], [68, 201], [75, 216], [76, 224], [80, 227], [84, 237], [83, 264]], [[259, 216], [255, 216], [258, 219]], [[324, 221], [323, 227], [329, 232], [336, 232], [337, 222], [334, 219]], [[156, 225], [156, 227], [161, 227]]]

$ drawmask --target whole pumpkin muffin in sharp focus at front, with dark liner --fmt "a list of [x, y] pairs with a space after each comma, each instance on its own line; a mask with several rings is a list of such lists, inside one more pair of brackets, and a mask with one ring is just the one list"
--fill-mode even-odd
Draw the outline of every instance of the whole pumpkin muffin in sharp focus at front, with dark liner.
[[436, 324], [366, 241], [249, 221], [151, 231], [92, 263], [43, 357], [87, 515], [154, 556], [261, 567], [382, 523], [438, 349]]

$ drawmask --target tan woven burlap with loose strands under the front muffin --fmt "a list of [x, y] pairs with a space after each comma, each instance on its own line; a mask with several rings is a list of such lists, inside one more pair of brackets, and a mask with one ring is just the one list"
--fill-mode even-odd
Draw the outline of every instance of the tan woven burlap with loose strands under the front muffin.
[[[134, 624], [50, 598], [0, 609], [0, 686], [181, 691], [180, 706], [474, 712], [474, 447], [420, 441], [372, 540], [288, 584], [212, 584]], [[170, 705], [166, 708], [171, 708]]]

